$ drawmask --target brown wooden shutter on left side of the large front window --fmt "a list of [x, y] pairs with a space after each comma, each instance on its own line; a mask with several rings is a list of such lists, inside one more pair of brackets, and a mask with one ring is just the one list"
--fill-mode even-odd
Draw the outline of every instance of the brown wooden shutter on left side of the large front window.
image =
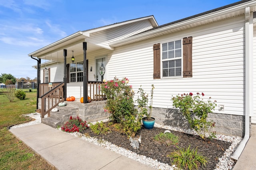
[[160, 53], [160, 43], [154, 44], [153, 46], [153, 55], [154, 55], [154, 79], [160, 79], [161, 78], [161, 68], [160, 68], [160, 62], [161, 62], [161, 53]]

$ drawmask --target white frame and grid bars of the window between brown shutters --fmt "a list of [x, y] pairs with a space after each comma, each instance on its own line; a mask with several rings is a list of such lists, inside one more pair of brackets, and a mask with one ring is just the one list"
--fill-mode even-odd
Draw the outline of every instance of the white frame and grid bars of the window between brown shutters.
[[[175, 48], [175, 41], [180, 41], [180, 48]], [[169, 50], [168, 49], [168, 43], [172, 43], [174, 42], [174, 49], [172, 50]], [[163, 44], [167, 44], [167, 50], [166, 51], [163, 51]], [[183, 71], [183, 45], [182, 45], [182, 39], [176, 39], [176, 40], [173, 40], [173, 41], [168, 41], [168, 42], [164, 42], [164, 43], [161, 43], [161, 78], [182, 78], [182, 71]], [[179, 50], [180, 49], [180, 57], [177, 57], [175, 58], [175, 50]], [[168, 51], [174, 51], [174, 58], [170, 58], [168, 59]], [[163, 59], [163, 53], [164, 52], [167, 52], [167, 59]], [[164, 61], [174, 61], [174, 60], [180, 60], [180, 69], [181, 69], [181, 72], [180, 72], [180, 75], [178, 76], [163, 76], [163, 73], [164, 73], [164, 68], [163, 68], [163, 62]], [[179, 68], [179, 67], [176, 67], [174, 66], [174, 69], [176, 68]], [[169, 69], [169, 66], [168, 68], [166, 69]], [[175, 74], [176, 74], [176, 70], [175, 70]]]

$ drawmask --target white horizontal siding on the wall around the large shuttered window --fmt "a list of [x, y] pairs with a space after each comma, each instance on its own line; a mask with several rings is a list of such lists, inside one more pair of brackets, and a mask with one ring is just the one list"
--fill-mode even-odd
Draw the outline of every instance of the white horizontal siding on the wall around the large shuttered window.
[[[193, 77], [154, 80], [153, 45], [188, 36], [193, 37]], [[225, 110], [219, 111], [217, 106], [215, 113], [244, 114], [243, 17], [117, 47], [108, 60], [108, 79], [127, 77], [136, 95], [140, 85], [150, 93], [154, 84], [153, 107], [172, 108], [172, 96], [204, 92], [204, 101], [211, 97], [217, 105], [224, 104]]]

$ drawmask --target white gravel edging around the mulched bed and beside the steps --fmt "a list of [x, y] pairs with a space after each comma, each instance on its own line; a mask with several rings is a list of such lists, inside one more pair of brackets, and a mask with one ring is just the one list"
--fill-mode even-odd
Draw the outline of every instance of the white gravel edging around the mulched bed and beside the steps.
[[[34, 121], [29, 121], [27, 123], [22, 123], [22, 124], [19, 124], [19, 125], [14, 125], [10, 128], [18, 128], [18, 127], [24, 127], [24, 126], [29, 126], [29, 125], [34, 125], [34, 124], [41, 123], [41, 118], [40, 118], [40, 116], [38, 116], [38, 114], [39, 113], [26, 114], [25, 116], [32, 117], [35, 120]], [[105, 121], [107, 121], [107, 120], [105, 120]], [[180, 131], [180, 132], [184, 132], [184, 133], [197, 135], [195, 131], [190, 130], [190, 129], [181, 129], [181, 128], [177, 128], [177, 127], [170, 127], [170, 126], [167, 126], [167, 125], [159, 125], [157, 123], [155, 123], [154, 126], [164, 128], [164, 129], [168, 129], [168, 130]], [[95, 145], [99, 145], [99, 146], [104, 147], [106, 149], [112, 150], [112, 151], [114, 151], [118, 154], [124, 155], [128, 158], [131, 158], [131, 159], [137, 160], [139, 162], [142, 162], [143, 164], [146, 164], [148, 166], [152, 166], [153, 168], [156, 168], [158, 170], [177, 170], [178, 169], [178, 168], [176, 168], [175, 165], [170, 166], [168, 164], [158, 162], [158, 160], [148, 158], [144, 155], [136, 154], [135, 152], [124, 149], [122, 147], [118, 147], [118, 146], [116, 146], [116, 145], [114, 145], [114, 144], [112, 144], [108, 141], [98, 140], [98, 139], [95, 139], [95, 138], [92, 138], [92, 137], [86, 137], [82, 133], [78, 133], [78, 132], [70, 133], [70, 134], [74, 135], [76, 137], [80, 137], [81, 139], [89, 141], [89, 142], [91, 142]], [[238, 144], [240, 143], [242, 138], [241, 137], [234, 137], [234, 136], [226, 136], [226, 135], [216, 135], [216, 137], [219, 140], [230, 142], [231, 145], [228, 149], [226, 149], [223, 156], [221, 158], [218, 158], [219, 162], [218, 162], [218, 164], [216, 164], [216, 169], [215, 170], [232, 170], [235, 163], [230, 160], [230, 156], [235, 151], [236, 147], [238, 147]], [[143, 143], [143, 139], [142, 139], [142, 143]]]

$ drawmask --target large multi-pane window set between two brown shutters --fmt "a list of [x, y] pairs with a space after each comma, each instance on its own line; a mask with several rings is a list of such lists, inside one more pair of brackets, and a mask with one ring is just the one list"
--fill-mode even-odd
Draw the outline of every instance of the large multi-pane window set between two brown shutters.
[[181, 76], [181, 40], [162, 44], [162, 76]]

